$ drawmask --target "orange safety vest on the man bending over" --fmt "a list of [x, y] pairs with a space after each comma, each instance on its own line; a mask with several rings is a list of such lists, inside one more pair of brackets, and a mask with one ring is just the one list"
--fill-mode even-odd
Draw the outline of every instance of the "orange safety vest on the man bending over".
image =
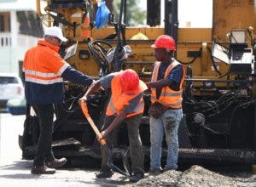
[[[111, 81], [111, 90], [112, 95], [108, 103], [108, 108], [106, 111], [107, 116], [112, 116], [113, 114], [119, 114], [126, 105], [129, 105], [129, 101], [137, 97], [138, 94], [141, 94], [144, 90], [148, 89], [146, 84], [143, 81], [139, 81], [139, 87], [137, 88], [136, 94], [125, 94], [122, 92], [120, 84], [120, 73], [113, 77]], [[126, 115], [126, 117], [136, 116], [142, 114], [144, 111], [144, 101], [143, 98], [140, 99], [137, 104], [135, 111]]]

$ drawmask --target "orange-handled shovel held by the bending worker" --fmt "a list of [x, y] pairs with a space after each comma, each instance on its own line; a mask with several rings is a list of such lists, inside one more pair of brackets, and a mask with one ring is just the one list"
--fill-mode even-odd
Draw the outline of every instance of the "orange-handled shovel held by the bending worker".
[[102, 134], [100, 133], [100, 131], [98, 130], [98, 128], [96, 127], [96, 124], [92, 121], [90, 114], [88, 112], [88, 107], [86, 105], [86, 103], [84, 102], [84, 100], [81, 100], [81, 108], [82, 111], [84, 113], [84, 116], [86, 117], [87, 121], [90, 123], [90, 127], [92, 127], [93, 131], [96, 133], [96, 136], [100, 139], [99, 142], [102, 145], [102, 150], [106, 153], [107, 155], [107, 165], [108, 167], [112, 168], [113, 171], [116, 171], [118, 173], [121, 173], [125, 176], [129, 176], [128, 173], [125, 173], [124, 171], [122, 171], [119, 167], [115, 166], [113, 164], [113, 160], [112, 160], [112, 152], [111, 150], [108, 148], [108, 144], [106, 142], [105, 139], [102, 139]]

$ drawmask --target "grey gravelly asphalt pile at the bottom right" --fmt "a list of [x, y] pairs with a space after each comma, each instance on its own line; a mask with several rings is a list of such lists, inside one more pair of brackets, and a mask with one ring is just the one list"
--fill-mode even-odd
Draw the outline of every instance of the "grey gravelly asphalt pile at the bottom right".
[[215, 173], [204, 167], [194, 165], [184, 172], [169, 170], [157, 176], [148, 175], [134, 186], [256, 186], [256, 173], [235, 172]]

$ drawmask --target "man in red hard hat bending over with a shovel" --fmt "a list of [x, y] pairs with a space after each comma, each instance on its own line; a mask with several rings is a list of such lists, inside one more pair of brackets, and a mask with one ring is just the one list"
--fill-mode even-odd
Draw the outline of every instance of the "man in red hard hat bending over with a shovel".
[[[95, 93], [101, 88], [111, 88], [112, 91], [105, 122], [102, 126], [102, 139], [107, 139], [107, 143], [111, 147], [113, 129], [119, 126], [121, 122], [126, 122], [131, 155], [131, 170], [133, 172], [130, 181], [137, 182], [144, 177], [144, 156], [139, 135], [139, 125], [144, 111], [143, 93], [148, 88], [143, 81], [139, 80], [136, 71], [128, 69], [102, 77], [88, 89], [82, 99], [87, 99], [90, 94]], [[107, 166], [107, 155], [102, 151], [102, 169], [96, 174], [96, 177], [110, 178], [112, 175], [113, 171]]]

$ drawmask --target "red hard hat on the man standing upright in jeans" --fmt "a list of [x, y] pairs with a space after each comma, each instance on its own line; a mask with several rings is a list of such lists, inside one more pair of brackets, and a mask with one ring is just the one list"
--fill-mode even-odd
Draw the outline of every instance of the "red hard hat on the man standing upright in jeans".
[[157, 37], [154, 44], [151, 45], [152, 48], [168, 48], [171, 51], [176, 50], [175, 40], [168, 35], [161, 35]]

